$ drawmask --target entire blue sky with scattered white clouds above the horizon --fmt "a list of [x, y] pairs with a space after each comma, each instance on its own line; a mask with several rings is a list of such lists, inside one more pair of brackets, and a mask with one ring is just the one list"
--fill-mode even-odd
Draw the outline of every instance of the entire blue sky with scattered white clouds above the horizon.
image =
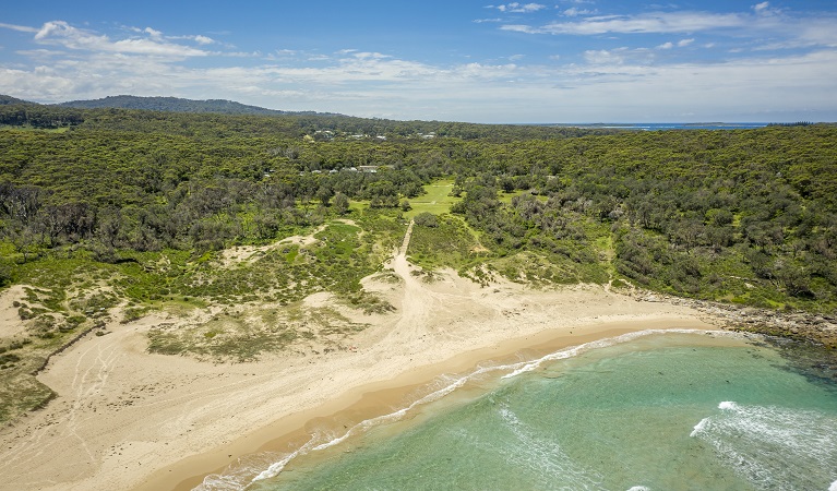
[[0, 10], [0, 94], [474, 122], [837, 121], [837, 2], [19, 1]]

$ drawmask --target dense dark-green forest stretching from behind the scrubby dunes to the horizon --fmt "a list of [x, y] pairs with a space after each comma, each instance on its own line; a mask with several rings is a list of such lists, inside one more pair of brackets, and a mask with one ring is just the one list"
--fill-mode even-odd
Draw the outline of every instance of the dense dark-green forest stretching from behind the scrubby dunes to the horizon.
[[111, 261], [203, 253], [277, 239], [350, 213], [349, 202], [398, 213], [425, 185], [453, 179], [462, 200], [451, 212], [478, 232], [489, 251], [480, 261], [528, 253], [558, 265], [558, 283], [615, 273], [760, 306], [829, 311], [837, 300], [832, 125], [585, 134], [0, 108], [2, 230], [17, 254], [4, 258], [7, 282], [17, 263], [68, 249]]

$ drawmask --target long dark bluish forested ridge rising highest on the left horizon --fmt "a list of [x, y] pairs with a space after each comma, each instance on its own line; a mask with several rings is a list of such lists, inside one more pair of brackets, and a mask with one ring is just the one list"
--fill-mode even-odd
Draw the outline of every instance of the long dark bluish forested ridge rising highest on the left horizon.
[[280, 115], [320, 115], [320, 116], [340, 116], [335, 113], [324, 113], [315, 111], [280, 111], [275, 109], [265, 109], [258, 106], [248, 106], [232, 100], [207, 99], [192, 100], [181, 99], [179, 97], [139, 97], [130, 95], [109, 96], [103, 99], [93, 100], [71, 100], [61, 103], [58, 106], [72, 107], [77, 109], [98, 109], [98, 108], [120, 108], [120, 109], [143, 109], [151, 111], [167, 112], [214, 112], [220, 115], [261, 115], [261, 116], [280, 116]]

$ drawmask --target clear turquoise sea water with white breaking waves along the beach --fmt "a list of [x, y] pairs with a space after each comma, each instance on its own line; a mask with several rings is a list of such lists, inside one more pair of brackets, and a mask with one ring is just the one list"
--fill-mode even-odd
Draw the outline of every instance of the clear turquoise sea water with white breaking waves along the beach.
[[742, 338], [627, 339], [440, 380], [430, 403], [204, 488], [837, 490], [833, 379]]

